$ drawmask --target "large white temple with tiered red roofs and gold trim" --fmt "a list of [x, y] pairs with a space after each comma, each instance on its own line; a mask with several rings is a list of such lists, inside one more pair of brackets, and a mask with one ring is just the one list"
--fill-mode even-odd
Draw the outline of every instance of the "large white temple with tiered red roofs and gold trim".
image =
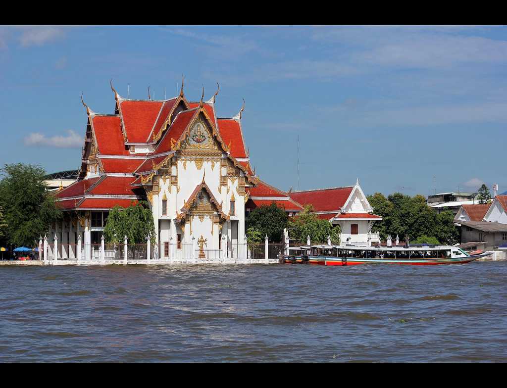
[[[287, 193], [262, 182], [249, 162], [241, 128], [244, 105], [218, 118], [215, 100], [188, 101], [182, 89], [167, 100], [133, 100], [113, 85], [114, 114], [88, 116], [78, 180], [56, 193], [63, 221], [53, 225], [63, 258], [75, 258], [81, 236], [84, 257], [100, 244], [108, 211], [147, 200], [153, 211], [153, 258], [192, 256], [194, 239], [207, 250], [246, 257], [248, 210], [275, 201], [300, 211]], [[225, 244], [225, 246], [224, 246]], [[224, 248], [226, 247], [226, 248]], [[51, 249], [51, 248], [50, 248]]]

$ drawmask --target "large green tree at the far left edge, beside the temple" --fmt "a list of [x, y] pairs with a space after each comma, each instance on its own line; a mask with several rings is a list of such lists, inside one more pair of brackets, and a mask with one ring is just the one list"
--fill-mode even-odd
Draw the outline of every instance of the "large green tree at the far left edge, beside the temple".
[[21, 163], [6, 164], [0, 171], [6, 238], [11, 244], [33, 247], [50, 224], [61, 217], [53, 195], [46, 189], [46, 172], [40, 166]]

